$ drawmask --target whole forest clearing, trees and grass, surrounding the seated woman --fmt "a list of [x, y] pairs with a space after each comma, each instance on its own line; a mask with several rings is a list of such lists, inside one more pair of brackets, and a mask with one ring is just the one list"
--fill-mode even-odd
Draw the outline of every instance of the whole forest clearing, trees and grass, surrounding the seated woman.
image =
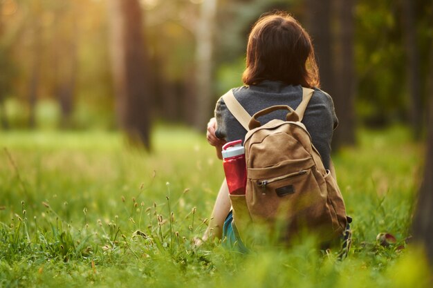
[[[242, 85], [252, 24], [274, 10], [313, 38], [340, 120], [333, 159], [357, 238], [342, 265], [311, 258], [308, 243], [241, 262], [264, 262], [268, 276], [257, 280], [232, 255], [179, 235], [190, 240], [208, 221], [223, 175], [205, 127], [216, 100]], [[433, 259], [432, 1], [0, 0], [0, 11], [0, 286], [50, 286], [57, 275], [71, 286], [133, 285], [134, 276], [172, 287], [172, 273], [229, 287], [242, 272], [233, 285], [413, 287], [425, 276], [412, 267], [422, 258], [394, 264], [412, 231]]]

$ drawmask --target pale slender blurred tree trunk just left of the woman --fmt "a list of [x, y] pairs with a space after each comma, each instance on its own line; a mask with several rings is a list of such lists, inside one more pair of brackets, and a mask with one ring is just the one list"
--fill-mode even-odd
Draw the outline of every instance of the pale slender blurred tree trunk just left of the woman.
[[196, 117], [194, 126], [202, 130], [212, 117], [213, 38], [216, 21], [216, 0], [201, 4], [196, 30]]

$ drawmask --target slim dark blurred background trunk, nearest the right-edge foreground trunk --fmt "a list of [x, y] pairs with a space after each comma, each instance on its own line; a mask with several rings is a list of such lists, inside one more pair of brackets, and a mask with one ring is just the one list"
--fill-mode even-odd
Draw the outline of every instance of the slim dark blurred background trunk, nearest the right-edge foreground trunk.
[[405, 48], [407, 53], [407, 86], [410, 103], [410, 119], [414, 137], [418, 140], [421, 137], [423, 123], [423, 109], [421, 104], [419, 55], [416, 49], [416, 27], [414, 23], [414, 1], [403, 0], [403, 27]]

